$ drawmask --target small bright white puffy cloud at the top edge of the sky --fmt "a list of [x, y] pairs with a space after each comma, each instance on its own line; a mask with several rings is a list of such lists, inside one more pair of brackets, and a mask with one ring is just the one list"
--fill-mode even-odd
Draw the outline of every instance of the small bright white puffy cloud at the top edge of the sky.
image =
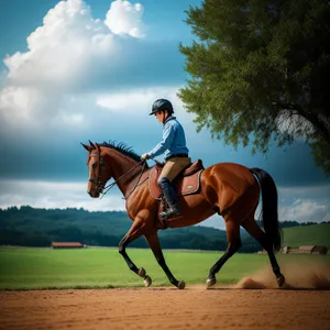
[[111, 3], [105, 23], [114, 34], [144, 37], [142, 14], [141, 3], [131, 4], [129, 1], [116, 0]]

